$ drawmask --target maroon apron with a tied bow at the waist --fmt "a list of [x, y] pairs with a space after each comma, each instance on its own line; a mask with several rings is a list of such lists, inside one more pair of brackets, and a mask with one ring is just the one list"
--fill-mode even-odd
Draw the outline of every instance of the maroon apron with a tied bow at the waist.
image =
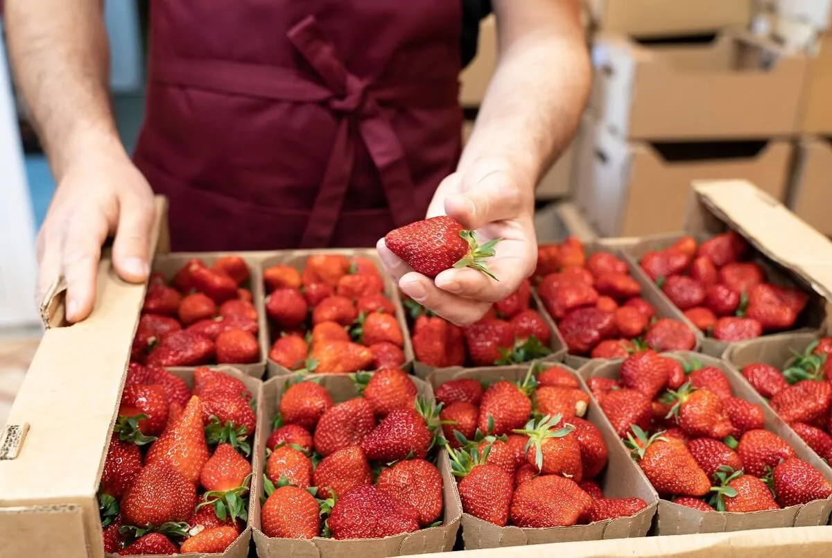
[[458, 0], [155, 0], [134, 159], [176, 250], [372, 246], [460, 151]]

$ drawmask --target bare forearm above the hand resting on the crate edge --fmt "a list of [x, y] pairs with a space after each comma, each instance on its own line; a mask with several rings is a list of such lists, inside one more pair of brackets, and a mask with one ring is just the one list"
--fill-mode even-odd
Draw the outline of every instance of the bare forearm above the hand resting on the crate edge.
[[7, 0], [12, 67], [60, 180], [87, 150], [118, 146], [102, 0]]

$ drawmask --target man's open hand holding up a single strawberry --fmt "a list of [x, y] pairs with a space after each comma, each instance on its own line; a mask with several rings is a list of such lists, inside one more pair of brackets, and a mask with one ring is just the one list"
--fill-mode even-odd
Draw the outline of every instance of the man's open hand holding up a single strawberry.
[[428, 217], [448, 215], [475, 230], [480, 244], [501, 239], [486, 260], [495, 281], [475, 269], [447, 269], [431, 280], [409, 268], [379, 240], [377, 249], [399, 289], [434, 313], [458, 325], [482, 318], [491, 304], [512, 294], [537, 263], [532, 190], [515, 183], [508, 165], [481, 161], [443, 180]]

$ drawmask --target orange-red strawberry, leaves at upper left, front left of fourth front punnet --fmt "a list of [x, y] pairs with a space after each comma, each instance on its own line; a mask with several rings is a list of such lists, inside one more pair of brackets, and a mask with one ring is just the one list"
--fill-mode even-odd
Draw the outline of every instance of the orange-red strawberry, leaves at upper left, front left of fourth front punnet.
[[705, 496], [711, 491], [711, 481], [683, 444], [661, 434], [647, 438], [635, 425], [632, 431], [636, 437], [629, 434], [624, 443], [659, 495]]

